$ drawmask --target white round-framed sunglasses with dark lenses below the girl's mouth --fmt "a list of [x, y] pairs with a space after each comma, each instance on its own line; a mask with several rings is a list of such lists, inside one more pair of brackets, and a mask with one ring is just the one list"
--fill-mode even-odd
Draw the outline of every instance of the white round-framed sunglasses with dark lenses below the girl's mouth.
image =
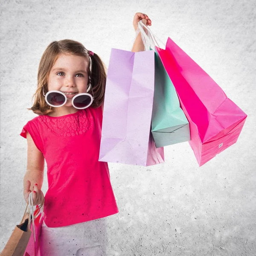
[[[44, 88], [43, 88], [44, 95]], [[66, 104], [67, 96], [58, 90], [50, 90], [46, 93], [45, 101], [48, 105], [54, 108], [61, 107]], [[72, 105], [77, 109], [84, 109], [90, 107], [93, 103], [94, 95], [91, 96], [89, 93], [79, 93], [72, 98]]]

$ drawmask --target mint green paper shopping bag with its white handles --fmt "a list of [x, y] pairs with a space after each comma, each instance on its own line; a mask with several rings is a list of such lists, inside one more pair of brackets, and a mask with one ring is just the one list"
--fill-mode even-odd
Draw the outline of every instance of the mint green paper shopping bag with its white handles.
[[[147, 29], [147, 34], [143, 30]], [[138, 23], [145, 49], [155, 49], [151, 31], [142, 21]], [[153, 38], [152, 38], [153, 39]], [[180, 102], [163, 63], [155, 50], [154, 101], [152, 110], [152, 135], [156, 147], [190, 140], [189, 122], [180, 108]]]

